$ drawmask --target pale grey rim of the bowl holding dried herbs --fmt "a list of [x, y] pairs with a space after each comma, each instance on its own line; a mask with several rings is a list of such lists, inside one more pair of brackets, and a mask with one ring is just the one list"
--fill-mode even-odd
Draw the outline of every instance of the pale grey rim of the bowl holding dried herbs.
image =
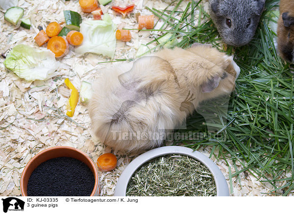
[[164, 146], [152, 149], [135, 158], [123, 170], [115, 188], [114, 196], [125, 196], [126, 188], [132, 175], [142, 164], [156, 157], [169, 154], [187, 155], [203, 163], [213, 174], [217, 187], [217, 196], [230, 196], [228, 185], [219, 167], [202, 153], [182, 146]]

